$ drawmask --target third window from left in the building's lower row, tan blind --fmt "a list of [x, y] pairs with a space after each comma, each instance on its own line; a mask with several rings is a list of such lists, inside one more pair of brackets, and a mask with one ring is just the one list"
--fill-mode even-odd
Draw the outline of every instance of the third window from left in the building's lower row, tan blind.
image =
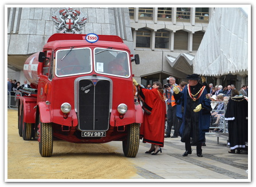
[[188, 50], [188, 33], [184, 30], [178, 30], [174, 33], [174, 49]]

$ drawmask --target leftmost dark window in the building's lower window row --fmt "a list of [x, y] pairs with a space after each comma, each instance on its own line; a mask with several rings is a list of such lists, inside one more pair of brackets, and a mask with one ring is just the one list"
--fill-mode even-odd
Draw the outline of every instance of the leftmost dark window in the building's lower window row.
[[151, 30], [138, 29], [136, 31], [136, 47], [150, 47]]

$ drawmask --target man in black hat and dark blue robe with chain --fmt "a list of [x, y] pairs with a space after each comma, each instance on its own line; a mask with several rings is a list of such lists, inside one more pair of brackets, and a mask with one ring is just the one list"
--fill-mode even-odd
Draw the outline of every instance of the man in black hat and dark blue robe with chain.
[[206, 86], [199, 83], [199, 75], [187, 76], [188, 85], [180, 92], [174, 88], [174, 97], [177, 104], [184, 106], [183, 122], [180, 127], [181, 141], [185, 142], [186, 152], [183, 157], [192, 153], [191, 138], [196, 144], [196, 154], [202, 157], [202, 143], [204, 135], [210, 127], [211, 101]]

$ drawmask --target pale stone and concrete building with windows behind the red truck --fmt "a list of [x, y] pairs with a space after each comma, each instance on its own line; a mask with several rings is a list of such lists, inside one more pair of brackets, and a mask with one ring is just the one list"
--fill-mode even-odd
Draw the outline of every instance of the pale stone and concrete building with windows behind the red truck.
[[[21, 83], [23, 63], [57, 33], [53, 14], [64, 7], [7, 7], [8, 78]], [[132, 67], [135, 79], [147, 85], [166, 83], [170, 75], [179, 83], [192, 74], [192, 59], [202, 41], [213, 7], [72, 7], [86, 15], [81, 34], [119, 35], [140, 65]], [[239, 85], [239, 76], [208, 77], [214, 85]], [[210, 83], [209, 82], [209, 83]]]

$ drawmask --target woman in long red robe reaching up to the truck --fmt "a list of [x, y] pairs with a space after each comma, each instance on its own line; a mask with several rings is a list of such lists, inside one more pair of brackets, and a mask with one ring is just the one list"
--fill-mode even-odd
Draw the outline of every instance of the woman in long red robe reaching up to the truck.
[[156, 155], [164, 146], [164, 125], [166, 121], [166, 102], [164, 101], [163, 86], [161, 82], [153, 82], [152, 89], [144, 89], [135, 79], [133, 84], [137, 86], [138, 98], [143, 104], [144, 117], [140, 125], [140, 138], [143, 142], [151, 144], [151, 148], [145, 153]]

